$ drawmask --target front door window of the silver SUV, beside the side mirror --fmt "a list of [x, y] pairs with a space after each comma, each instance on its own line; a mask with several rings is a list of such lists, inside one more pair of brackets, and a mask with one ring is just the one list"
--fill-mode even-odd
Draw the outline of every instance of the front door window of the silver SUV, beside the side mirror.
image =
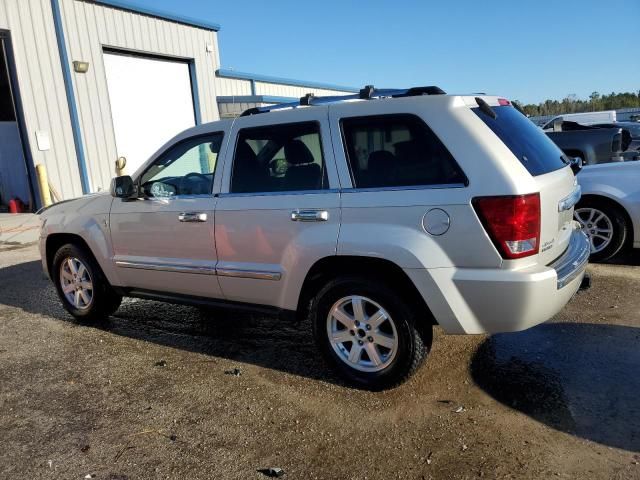
[[140, 185], [147, 196], [207, 195], [223, 133], [184, 140], [162, 154], [142, 175]]

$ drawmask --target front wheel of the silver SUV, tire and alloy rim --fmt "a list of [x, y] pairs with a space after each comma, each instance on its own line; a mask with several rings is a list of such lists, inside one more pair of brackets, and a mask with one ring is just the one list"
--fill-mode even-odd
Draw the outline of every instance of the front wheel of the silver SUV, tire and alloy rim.
[[51, 277], [62, 306], [82, 322], [104, 320], [122, 302], [122, 296], [109, 285], [91, 253], [78, 245], [68, 243], [58, 249], [53, 257]]

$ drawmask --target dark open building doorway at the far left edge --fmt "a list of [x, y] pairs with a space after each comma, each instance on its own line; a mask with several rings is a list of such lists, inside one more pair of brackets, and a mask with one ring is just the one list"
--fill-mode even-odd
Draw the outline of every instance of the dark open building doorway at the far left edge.
[[15, 78], [12, 61], [9, 36], [0, 31], [0, 205], [19, 199], [34, 209], [12, 82]]

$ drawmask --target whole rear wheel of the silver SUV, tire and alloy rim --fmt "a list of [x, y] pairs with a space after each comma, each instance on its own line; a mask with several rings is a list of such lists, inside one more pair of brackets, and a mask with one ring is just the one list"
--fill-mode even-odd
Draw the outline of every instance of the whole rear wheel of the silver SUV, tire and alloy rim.
[[[411, 303], [384, 281], [356, 276], [331, 280], [309, 308], [320, 353], [340, 377], [360, 388], [384, 390], [404, 383], [424, 362], [432, 342], [431, 325]], [[359, 325], [358, 318], [364, 319]]]

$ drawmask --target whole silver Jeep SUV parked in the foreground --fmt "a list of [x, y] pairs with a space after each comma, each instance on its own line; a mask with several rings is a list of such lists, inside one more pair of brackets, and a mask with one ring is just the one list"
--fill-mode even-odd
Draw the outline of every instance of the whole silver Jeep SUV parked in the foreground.
[[508, 100], [366, 87], [187, 130], [110, 195], [45, 210], [40, 248], [79, 319], [123, 296], [292, 314], [339, 374], [382, 389], [433, 325], [516, 331], [562, 309], [589, 256], [579, 198]]

